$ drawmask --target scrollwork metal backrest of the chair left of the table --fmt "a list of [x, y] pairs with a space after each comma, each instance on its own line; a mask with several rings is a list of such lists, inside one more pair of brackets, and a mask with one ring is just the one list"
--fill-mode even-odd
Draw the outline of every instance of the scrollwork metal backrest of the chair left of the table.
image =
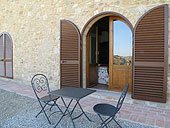
[[50, 92], [48, 79], [44, 74], [34, 75], [31, 79], [31, 85], [38, 99]]

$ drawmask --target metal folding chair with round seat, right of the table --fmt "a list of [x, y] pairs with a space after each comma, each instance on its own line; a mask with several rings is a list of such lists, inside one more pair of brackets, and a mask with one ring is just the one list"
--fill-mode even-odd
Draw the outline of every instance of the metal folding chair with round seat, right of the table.
[[[111, 104], [96, 104], [93, 107], [94, 112], [97, 113], [97, 115], [99, 116], [99, 118], [102, 121], [102, 123], [100, 124], [101, 128], [103, 128], [103, 127], [108, 128], [107, 125], [112, 120], [114, 120], [116, 122], [116, 124], [121, 128], [121, 125], [116, 121], [115, 116], [120, 111], [120, 108], [122, 107], [123, 101], [124, 101], [127, 91], [128, 91], [128, 88], [129, 88], [129, 84], [127, 84], [124, 87], [116, 107]], [[104, 120], [102, 118], [102, 116], [108, 116], [108, 118]]]

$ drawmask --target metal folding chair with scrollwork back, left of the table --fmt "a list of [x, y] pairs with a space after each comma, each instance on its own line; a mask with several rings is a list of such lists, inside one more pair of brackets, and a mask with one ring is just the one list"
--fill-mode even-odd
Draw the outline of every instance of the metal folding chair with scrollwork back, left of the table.
[[31, 79], [31, 85], [32, 85], [34, 93], [35, 93], [35, 95], [36, 95], [36, 97], [38, 99], [40, 107], [41, 107], [41, 110], [36, 115], [36, 118], [38, 117], [39, 114], [44, 113], [46, 118], [47, 118], [47, 120], [48, 120], [48, 122], [49, 122], [49, 124], [51, 124], [51, 122], [49, 120], [49, 117], [51, 115], [49, 117], [47, 116], [47, 113], [46, 113], [47, 109], [45, 109], [45, 108], [47, 106], [50, 106], [50, 111], [51, 111], [53, 106], [57, 106], [59, 111], [61, 113], [63, 113], [62, 110], [60, 109], [60, 107], [56, 103], [56, 101], [57, 101], [57, 99], [59, 97], [48, 94], [50, 92], [49, 83], [48, 83], [47, 77], [45, 75], [43, 75], [43, 74], [36, 74], [36, 75], [34, 75], [32, 77], [32, 79]]

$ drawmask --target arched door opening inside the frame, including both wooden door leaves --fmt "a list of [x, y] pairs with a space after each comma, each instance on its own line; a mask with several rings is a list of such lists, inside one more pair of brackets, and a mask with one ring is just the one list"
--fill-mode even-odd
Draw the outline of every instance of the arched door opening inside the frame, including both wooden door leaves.
[[106, 16], [86, 36], [86, 87], [122, 91], [132, 86], [132, 31], [121, 17]]

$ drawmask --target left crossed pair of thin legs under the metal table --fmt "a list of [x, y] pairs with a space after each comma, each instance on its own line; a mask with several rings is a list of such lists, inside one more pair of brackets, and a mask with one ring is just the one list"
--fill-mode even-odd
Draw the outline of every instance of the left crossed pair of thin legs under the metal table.
[[69, 114], [69, 116], [70, 116], [70, 118], [71, 118], [71, 121], [72, 121], [72, 123], [73, 123], [73, 127], [75, 128], [75, 124], [74, 124], [73, 119], [72, 119], [72, 117], [71, 117], [71, 114], [70, 114], [70, 112], [69, 112], [69, 110], [68, 110], [69, 107], [70, 107], [70, 105], [71, 105], [71, 103], [72, 103], [72, 101], [73, 101], [73, 99], [70, 100], [70, 102], [69, 102], [68, 105], [66, 105], [63, 97], [61, 97], [61, 100], [63, 101], [64, 106], [66, 107], [66, 110], [64, 111], [62, 117], [61, 117], [60, 120], [57, 122], [57, 124], [54, 126], [54, 128], [56, 128], [56, 126], [60, 123], [60, 121], [62, 120], [62, 118], [65, 116], [66, 112], [68, 112], [68, 114]]

